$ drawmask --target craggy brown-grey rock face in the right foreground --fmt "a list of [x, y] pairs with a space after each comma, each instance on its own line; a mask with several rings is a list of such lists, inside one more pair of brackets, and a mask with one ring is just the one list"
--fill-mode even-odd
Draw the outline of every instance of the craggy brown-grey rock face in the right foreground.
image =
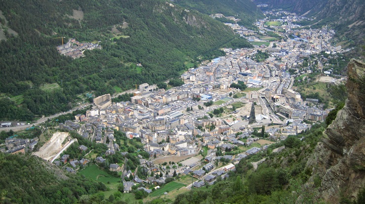
[[[365, 63], [350, 61], [346, 86], [345, 106], [307, 162], [312, 176], [304, 191], [314, 191], [316, 200], [328, 203], [339, 203], [340, 197], [356, 198], [365, 185]], [[316, 177], [322, 183], [313, 190]]]

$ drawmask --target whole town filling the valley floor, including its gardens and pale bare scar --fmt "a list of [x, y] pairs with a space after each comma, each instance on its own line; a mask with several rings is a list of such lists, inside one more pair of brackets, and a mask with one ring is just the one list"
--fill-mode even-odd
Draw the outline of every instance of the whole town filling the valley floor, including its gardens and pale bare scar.
[[[297, 87], [314, 80], [343, 84], [346, 77], [332, 66], [331, 59], [341, 58], [341, 53], [349, 49], [332, 43], [333, 30], [300, 29], [295, 24], [311, 19], [283, 10], [265, 14], [271, 18], [258, 20], [256, 30], [236, 24], [240, 19], [235, 17], [212, 14], [212, 18], [233, 21], [225, 24], [247, 38], [254, 48], [223, 49], [225, 56], [185, 71], [182, 86], [163, 89], [136, 84], [135, 89], [125, 92], [131, 94], [126, 102], [112, 102], [110, 94], [95, 96], [85, 114], [57, 121], [61, 133], [52, 132], [33, 154], [69, 172], [82, 173], [95, 165], [115, 171], [121, 177], [124, 193], [137, 187], [153, 193], [174, 180], [171, 178], [183, 179], [180, 188], [200, 188], [228, 177], [229, 171], [246, 157], [325, 121], [333, 104], [308, 95], [304, 98]], [[76, 59], [83, 57], [82, 50], [101, 46], [70, 39], [57, 49]], [[1, 123], [8, 129], [26, 125]], [[51, 129], [44, 123], [31, 125], [26, 131]], [[69, 132], [107, 148], [95, 152], [90, 146], [78, 145]], [[124, 140], [116, 133], [124, 134]], [[14, 135], [6, 138], [6, 147], [1, 151], [32, 152], [38, 142], [38, 137]], [[82, 152], [80, 157], [63, 153], [72, 145]], [[137, 161], [133, 165], [132, 157]], [[261, 162], [264, 159], [253, 163], [254, 168]], [[163, 193], [169, 194], [165, 190]]]

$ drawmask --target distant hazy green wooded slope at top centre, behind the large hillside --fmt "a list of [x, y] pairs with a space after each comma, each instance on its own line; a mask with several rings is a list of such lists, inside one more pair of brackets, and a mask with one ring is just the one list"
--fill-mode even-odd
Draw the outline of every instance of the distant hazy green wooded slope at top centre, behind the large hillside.
[[251, 0], [176, 0], [177, 4], [198, 10], [208, 15], [221, 13], [241, 19], [240, 25], [252, 26], [257, 19], [263, 18], [262, 11]]

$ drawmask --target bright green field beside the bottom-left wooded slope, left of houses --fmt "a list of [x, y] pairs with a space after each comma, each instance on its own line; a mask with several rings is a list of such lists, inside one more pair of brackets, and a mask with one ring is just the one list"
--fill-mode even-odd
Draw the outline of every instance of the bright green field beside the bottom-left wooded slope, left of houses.
[[120, 178], [116, 178], [114, 176], [111, 176], [107, 172], [103, 171], [101, 168], [99, 168], [96, 165], [91, 165], [83, 170], [80, 170], [79, 172], [82, 175], [85, 175], [88, 178], [91, 178], [96, 181], [100, 181], [103, 183], [110, 183], [113, 182], [120, 182]]

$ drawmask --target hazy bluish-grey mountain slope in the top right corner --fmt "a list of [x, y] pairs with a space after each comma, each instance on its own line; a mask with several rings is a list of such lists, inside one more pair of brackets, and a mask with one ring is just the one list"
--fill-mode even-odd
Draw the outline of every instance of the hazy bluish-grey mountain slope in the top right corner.
[[[365, 5], [363, 0], [254, 0], [255, 3], [266, 3], [262, 9], [282, 8], [307, 17], [315, 17], [312, 28], [328, 26], [336, 30], [340, 41], [347, 41], [348, 46], [364, 45]], [[357, 54], [362, 54], [357, 50]]]

